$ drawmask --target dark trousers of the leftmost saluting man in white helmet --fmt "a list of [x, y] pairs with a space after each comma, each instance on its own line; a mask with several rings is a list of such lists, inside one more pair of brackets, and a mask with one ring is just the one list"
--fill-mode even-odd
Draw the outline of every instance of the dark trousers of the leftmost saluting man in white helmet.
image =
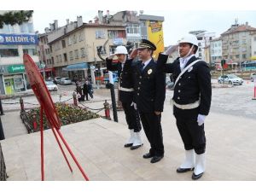
[[122, 107], [125, 111], [125, 119], [129, 130], [134, 130], [134, 132], [141, 131], [142, 125], [137, 109], [131, 106], [131, 102], [122, 102]]

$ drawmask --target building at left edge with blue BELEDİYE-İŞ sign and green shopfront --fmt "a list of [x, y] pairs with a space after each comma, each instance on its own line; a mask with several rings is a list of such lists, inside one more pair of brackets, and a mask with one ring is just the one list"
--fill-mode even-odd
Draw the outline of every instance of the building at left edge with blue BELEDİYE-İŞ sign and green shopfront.
[[23, 54], [31, 55], [33, 61], [39, 64], [37, 44], [38, 34], [34, 32], [32, 18], [21, 25], [3, 25], [0, 29], [1, 94], [11, 95], [31, 89], [23, 65]]

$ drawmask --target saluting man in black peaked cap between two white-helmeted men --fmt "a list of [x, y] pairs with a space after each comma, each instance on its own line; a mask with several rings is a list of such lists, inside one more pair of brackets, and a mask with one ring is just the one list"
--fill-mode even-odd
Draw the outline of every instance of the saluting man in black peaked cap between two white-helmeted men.
[[151, 158], [151, 163], [160, 161], [165, 153], [160, 119], [166, 98], [166, 78], [152, 58], [155, 49], [153, 43], [143, 39], [138, 49], [131, 53], [131, 57], [138, 55], [141, 60], [132, 66], [132, 74], [137, 108], [150, 143], [149, 153], [143, 158]]

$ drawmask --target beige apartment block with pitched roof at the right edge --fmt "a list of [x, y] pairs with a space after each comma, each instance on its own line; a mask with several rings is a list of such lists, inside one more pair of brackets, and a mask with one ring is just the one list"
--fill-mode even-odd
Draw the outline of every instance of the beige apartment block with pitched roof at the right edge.
[[256, 32], [256, 28], [249, 26], [248, 23], [232, 25], [222, 37], [222, 56], [225, 60], [230, 60], [241, 64], [248, 61], [252, 56], [252, 37], [250, 34]]

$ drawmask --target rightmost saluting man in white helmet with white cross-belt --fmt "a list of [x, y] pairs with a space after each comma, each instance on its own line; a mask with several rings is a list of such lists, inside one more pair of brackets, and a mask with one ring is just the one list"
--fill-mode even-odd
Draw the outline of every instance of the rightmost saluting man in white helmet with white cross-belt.
[[[165, 62], [159, 64], [163, 72], [173, 73], [175, 79], [173, 114], [185, 148], [185, 160], [177, 172], [194, 170], [192, 179], [195, 180], [205, 172], [204, 121], [211, 106], [211, 74], [207, 63], [195, 57], [198, 40], [194, 35], [184, 36], [178, 49], [180, 57], [171, 65]], [[167, 60], [167, 55], [172, 51], [172, 47], [168, 48], [164, 55], [160, 54], [160, 58]]]

